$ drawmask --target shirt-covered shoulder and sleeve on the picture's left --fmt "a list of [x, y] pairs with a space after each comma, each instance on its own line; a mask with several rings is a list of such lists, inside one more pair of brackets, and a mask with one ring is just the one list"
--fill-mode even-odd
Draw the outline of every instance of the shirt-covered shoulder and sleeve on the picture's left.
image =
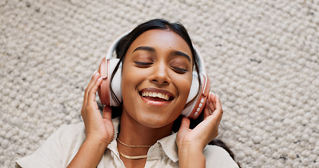
[[17, 160], [15, 167], [67, 167], [84, 139], [83, 123], [62, 125], [32, 155]]

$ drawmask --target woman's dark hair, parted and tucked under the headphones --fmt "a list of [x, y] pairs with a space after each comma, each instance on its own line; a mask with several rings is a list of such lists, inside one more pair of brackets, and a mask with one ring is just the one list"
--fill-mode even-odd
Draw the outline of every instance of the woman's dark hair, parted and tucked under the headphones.
[[[120, 59], [120, 61], [118, 62], [118, 64], [116, 64], [114, 72], [111, 74], [111, 81], [113, 80], [115, 73], [119, 68], [120, 63], [123, 62], [125, 54], [128, 51], [128, 48], [130, 48], [130, 45], [133, 43], [133, 41], [135, 41], [135, 39], [138, 36], [140, 36], [142, 33], [144, 33], [145, 31], [151, 30], [151, 29], [170, 29], [171, 31], [174, 31], [176, 34], [181, 36], [184, 39], [184, 41], [186, 41], [186, 43], [189, 45], [189, 48], [191, 49], [191, 54], [192, 54], [192, 57], [194, 60], [193, 64], [194, 64], [195, 70], [199, 76], [199, 67], [198, 67], [198, 62], [196, 60], [196, 52], [194, 50], [194, 46], [192, 44], [191, 38], [190, 38], [188, 32], [186, 31], [185, 27], [179, 22], [170, 23], [167, 20], [155, 19], [155, 20], [149, 20], [148, 22], [144, 22], [141, 25], [137, 26], [135, 29], [130, 31], [130, 33], [128, 35], [124, 36], [121, 39], [121, 41], [119, 41], [119, 43], [116, 47], [116, 57], [118, 57]], [[198, 82], [199, 82], [199, 85], [201, 86], [201, 80], [199, 78], [198, 78]], [[112, 107], [112, 111], [114, 111], [114, 112], [116, 111], [116, 113], [112, 113], [112, 118], [115, 118], [117, 116], [121, 116], [122, 104], [118, 100], [118, 98], [116, 97], [111, 85], [110, 85], [110, 92], [111, 92], [111, 98], [114, 100], [114, 102], [116, 102], [116, 104], [119, 107], [119, 108]], [[198, 90], [198, 93], [199, 93], [199, 90]], [[192, 101], [194, 101], [194, 99]], [[102, 109], [102, 108], [100, 108], [100, 109]], [[172, 127], [173, 132], [177, 132], [179, 130], [181, 120], [182, 120], [182, 116], [179, 116], [174, 121], [174, 125]], [[203, 113], [201, 113], [201, 115], [198, 116], [198, 118], [196, 118], [196, 120], [191, 120], [190, 128], [193, 129], [194, 127], [196, 127], [196, 125], [198, 125], [202, 121], [203, 121]], [[214, 139], [214, 140], [210, 141], [209, 144], [220, 146], [220, 147], [224, 148], [229, 153], [229, 155], [231, 155], [231, 158], [233, 158], [233, 160], [234, 160], [233, 153], [226, 146], [226, 144], [224, 144], [224, 142], [222, 142], [218, 139]], [[240, 167], [239, 164], [238, 164], [238, 166]]]

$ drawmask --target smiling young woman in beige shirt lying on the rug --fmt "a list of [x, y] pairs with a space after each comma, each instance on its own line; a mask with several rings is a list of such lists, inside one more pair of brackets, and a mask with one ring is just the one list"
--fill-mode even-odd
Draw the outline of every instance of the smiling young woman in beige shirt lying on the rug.
[[[84, 124], [58, 130], [17, 167], [238, 167], [223, 148], [208, 145], [222, 119], [217, 95], [209, 94], [203, 121], [194, 129], [181, 116], [198, 73], [181, 24], [145, 22], [121, 40], [116, 53], [123, 100], [112, 97], [120, 111], [105, 106], [101, 116], [95, 94], [102, 77], [95, 71], [84, 94]], [[112, 113], [120, 117], [112, 119]]]

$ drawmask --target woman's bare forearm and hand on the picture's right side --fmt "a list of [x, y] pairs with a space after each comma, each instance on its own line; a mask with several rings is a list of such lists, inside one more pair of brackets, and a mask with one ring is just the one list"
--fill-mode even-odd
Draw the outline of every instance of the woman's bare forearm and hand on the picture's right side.
[[[212, 113], [211, 113], [212, 111]], [[205, 167], [203, 150], [218, 135], [218, 127], [222, 120], [222, 105], [219, 97], [213, 93], [208, 96], [204, 109], [204, 120], [194, 130], [189, 129], [189, 118], [182, 118], [177, 132], [179, 167]]]

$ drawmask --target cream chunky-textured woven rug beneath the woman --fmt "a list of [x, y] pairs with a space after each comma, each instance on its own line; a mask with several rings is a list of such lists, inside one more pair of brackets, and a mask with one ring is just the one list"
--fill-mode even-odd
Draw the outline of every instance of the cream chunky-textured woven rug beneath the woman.
[[243, 167], [319, 167], [318, 0], [0, 0], [0, 167], [79, 123], [111, 41], [153, 18], [189, 30]]

